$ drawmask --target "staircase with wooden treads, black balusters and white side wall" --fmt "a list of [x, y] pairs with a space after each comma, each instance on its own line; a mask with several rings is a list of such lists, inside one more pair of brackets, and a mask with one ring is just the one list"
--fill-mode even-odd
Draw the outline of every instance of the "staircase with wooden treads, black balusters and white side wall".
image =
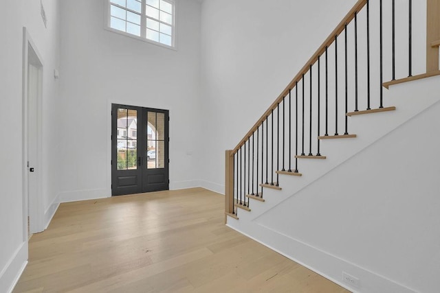
[[[375, 244], [364, 257], [347, 252], [369, 242], [360, 231], [373, 227], [371, 236], [386, 241], [380, 227], [388, 226], [390, 207], [411, 202], [399, 198], [399, 190], [438, 171], [418, 169], [430, 160], [414, 152], [418, 144], [408, 135], [429, 143], [426, 133], [435, 132], [440, 122], [435, 115], [440, 108], [440, 3], [426, 1], [426, 16], [412, 14], [412, 5], [421, 1], [397, 3], [358, 1], [236, 148], [225, 152], [228, 226], [355, 292], [435, 288], [414, 277], [417, 270], [391, 270], [386, 261], [380, 265], [381, 259], [399, 262], [413, 246], [395, 244], [402, 248], [382, 255], [382, 246]], [[406, 25], [395, 25], [396, 19], [406, 19]], [[419, 30], [414, 22], [428, 25]], [[428, 45], [413, 41], [420, 34], [426, 34]], [[434, 139], [427, 149], [436, 145]], [[369, 218], [371, 227], [364, 224]], [[383, 231], [394, 233], [396, 226]], [[404, 263], [410, 261], [402, 261], [408, 268]], [[344, 281], [342, 272], [362, 281]]]

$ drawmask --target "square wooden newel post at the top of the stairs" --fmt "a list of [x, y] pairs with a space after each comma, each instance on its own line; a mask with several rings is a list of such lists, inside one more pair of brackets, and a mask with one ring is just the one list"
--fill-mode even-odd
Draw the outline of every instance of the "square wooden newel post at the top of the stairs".
[[440, 0], [426, 0], [426, 73], [439, 70]]

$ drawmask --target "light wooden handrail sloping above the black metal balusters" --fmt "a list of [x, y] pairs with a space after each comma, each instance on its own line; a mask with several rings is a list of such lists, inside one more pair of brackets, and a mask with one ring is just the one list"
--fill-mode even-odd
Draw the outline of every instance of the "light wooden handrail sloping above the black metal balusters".
[[339, 25], [336, 27], [336, 29], [334, 29], [333, 32], [331, 32], [331, 34], [324, 41], [324, 43], [322, 43], [322, 45], [320, 45], [318, 50], [316, 50], [315, 54], [313, 56], [311, 56], [309, 61], [307, 61], [307, 63], [304, 65], [304, 67], [294, 77], [292, 82], [290, 82], [286, 86], [286, 88], [281, 93], [281, 95], [278, 96], [278, 98], [275, 100], [275, 102], [272, 103], [272, 105], [265, 111], [265, 113], [261, 116], [261, 118], [258, 121], [256, 121], [256, 124], [254, 124], [254, 126], [252, 126], [252, 128], [245, 135], [245, 137], [243, 137], [243, 139], [241, 139], [239, 144], [236, 145], [234, 150], [232, 150], [232, 152], [230, 152], [231, 156], [233, 156], [241, 148], [241, 146], [249, 139], [249, 137], [252, 135], [252, 133], [254, 133], [257, 130], [257, 128], [259, 128], [261, 123], [263, 123], [263, 121], [265, 121], [266, 117], [269, 116], [270, 113], [272, 113], [272, 110], [275, 110], [276, 107], [278, 106], [278, 104], [283, 102], [283, 98], [286, 97], [289, 94], [289, 91], [294, 88], [294, 85], [296, 84], [296, 82], [299, 82], [301, 80], [301, 78], [303, 78], [303, 74], [305, 74], [305, 73], [307, 73], [307, 71], [309, 71], [310, 65], [314, 65], [315, 62], [318, 61], [318, 56], [321, 56], [322, 54], [325, 53], [325, 48], [329, 47], [334, 42], [335, 36], [338, 36], [341, 32], [344, 31], [345, 24], [350, 23], [350, 21], [352, 21], [354, 19], [355, 13], [359, 12], [364, 7], [364, 5], [366, 4], [366, 1], [367, 0], [359, 0], [353, 6], [353, 8], [351, 8], [349, 13], [344, 17], [344, 19], [342, 19], [342, 21], [339, 23]]

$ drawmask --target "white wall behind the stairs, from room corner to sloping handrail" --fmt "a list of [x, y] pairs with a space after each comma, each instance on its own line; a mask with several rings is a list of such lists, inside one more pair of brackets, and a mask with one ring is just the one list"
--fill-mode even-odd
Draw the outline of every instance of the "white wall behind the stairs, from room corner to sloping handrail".
[[203, 187], [224, 192], [224, 151], [239, 143], [355, 2], [203, 1], [203, 133], [214, 134], [203, 141], [201, 162], [209, 162]]

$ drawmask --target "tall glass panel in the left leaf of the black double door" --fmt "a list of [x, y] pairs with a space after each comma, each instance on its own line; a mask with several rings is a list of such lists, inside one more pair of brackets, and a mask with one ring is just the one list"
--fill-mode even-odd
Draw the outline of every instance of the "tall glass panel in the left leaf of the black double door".
[[137, 169], [137, 110], [118, 108], [118, 170]]

